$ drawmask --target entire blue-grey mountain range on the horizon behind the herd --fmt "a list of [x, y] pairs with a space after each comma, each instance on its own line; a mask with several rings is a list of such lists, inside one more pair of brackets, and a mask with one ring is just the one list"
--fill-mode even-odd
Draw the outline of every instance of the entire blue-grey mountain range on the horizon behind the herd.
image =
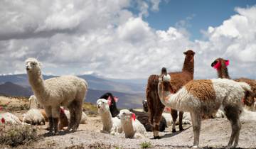
[[[56, 77], [43, 75], [44, 79]], [[97, 99], [111, 92], [119, 97], [117, 106], [119, 108], [139, 108], [142, 107], [142, 100], [145, 99], [146, 79], [107, 79], [93, 75], [80, 75], [89, 84], [89, 89], [85, 101], [96, 103]], [[31, 96], [33, 94], [28, 77], [21, 75], [0, 76], [0, 94], [9, 96]]]

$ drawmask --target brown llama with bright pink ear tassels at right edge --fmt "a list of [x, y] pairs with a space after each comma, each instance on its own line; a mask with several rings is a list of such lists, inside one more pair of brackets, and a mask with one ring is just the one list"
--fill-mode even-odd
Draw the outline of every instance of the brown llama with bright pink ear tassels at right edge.
[[[223, 58], [217, 58], [211, 64], [211, 67], [214, 67], [218, 72], [219, 78], [231, 79], [228, 75], [228, 65], [229, 60], [224, 60]], [[256, 98], [256, 81], [254, 79], [248, 79], [241, 77], [239, 79], [234, 79], [236, 82], [245, 82], [250, 85], [252, 92], [245, 92], [245, 97], [242, 100], [243, 104], [246, 106], [254, 106]]]

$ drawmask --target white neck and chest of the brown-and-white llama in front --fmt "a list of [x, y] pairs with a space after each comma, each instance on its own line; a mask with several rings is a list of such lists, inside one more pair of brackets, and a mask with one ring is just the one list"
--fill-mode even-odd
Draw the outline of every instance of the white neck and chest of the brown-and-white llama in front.
[[159, 83], [158, 94], [159, 94], [161, 103], [164, 104], [164, 106], [170, 107], [171, 109], [182, 111], [181, 103], [180, 103], [182, 100], [179, 100], [181, 96], [177, 96], [178, 92], [176, 92], [175, 94], [171, 94], [171, 92], [169, 91], [164, 91], [163, 88], [164, 88], [163, 85]]

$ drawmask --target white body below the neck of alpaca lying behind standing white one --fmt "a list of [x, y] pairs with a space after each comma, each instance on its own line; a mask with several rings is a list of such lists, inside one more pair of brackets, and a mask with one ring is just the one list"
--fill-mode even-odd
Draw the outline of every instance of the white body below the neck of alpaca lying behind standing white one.
[[29, 123], [32, 125], [44, 125], [46, 124], [46, 120], [41, 114], [40, 109], [30, 109], [23, 114], [23, 123]]

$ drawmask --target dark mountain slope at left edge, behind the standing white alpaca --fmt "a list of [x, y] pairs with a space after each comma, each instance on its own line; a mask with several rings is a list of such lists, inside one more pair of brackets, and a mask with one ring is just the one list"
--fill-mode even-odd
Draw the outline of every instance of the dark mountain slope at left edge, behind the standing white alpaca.
[[11, 96], [31, 96], [32, 91], [29, 88], [21, 87], [12, 82], [6, 82], [0, 85], [0, 94]]

